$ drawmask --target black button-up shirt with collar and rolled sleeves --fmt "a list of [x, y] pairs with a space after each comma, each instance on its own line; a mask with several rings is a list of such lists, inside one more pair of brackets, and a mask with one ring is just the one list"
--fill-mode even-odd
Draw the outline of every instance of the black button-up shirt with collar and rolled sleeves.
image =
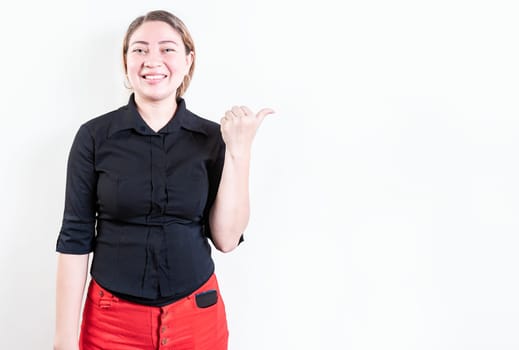
[[56, 250], [94, 251], [92, 277], [120, 295], [171, 301], [190, 294], [214, 271], [208, 214], [224, 152], [220, 126], [183, 99], [155, 132], [132, 95], [77, 132]]

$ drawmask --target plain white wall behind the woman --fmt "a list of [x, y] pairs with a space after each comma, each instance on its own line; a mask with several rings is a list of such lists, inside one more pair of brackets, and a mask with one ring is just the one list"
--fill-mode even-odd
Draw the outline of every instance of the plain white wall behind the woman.
[[18, 1], [0, 21], [0, 348], [50, 349], [77, 128], [126, 103], [120, 47], [164, 8], [188, 108], [274, 108], [246, 243], [215, 252], [231, 350], [519, 348], [513, 1]]

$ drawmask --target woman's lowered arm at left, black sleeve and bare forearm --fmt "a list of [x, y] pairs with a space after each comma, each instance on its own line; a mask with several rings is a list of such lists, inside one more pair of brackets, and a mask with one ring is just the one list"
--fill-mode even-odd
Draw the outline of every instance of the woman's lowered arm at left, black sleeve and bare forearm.
[[55, 350], [78, 350], [78, 325], [88, 270], [95, 241], [95, 188], [93, 139], [81, 127], [72, 144], [67, 164], [63, 224], [56, 242]]

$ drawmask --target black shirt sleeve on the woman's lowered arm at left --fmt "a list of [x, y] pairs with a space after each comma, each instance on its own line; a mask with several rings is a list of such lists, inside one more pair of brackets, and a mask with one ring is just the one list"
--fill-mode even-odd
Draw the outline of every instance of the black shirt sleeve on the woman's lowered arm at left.
[[88, 254], [94, 249], [97, 174], [94, 141], [82, 125], [72, 143], [67, 163], [67, 185], [63, 223], [56, 251]]

